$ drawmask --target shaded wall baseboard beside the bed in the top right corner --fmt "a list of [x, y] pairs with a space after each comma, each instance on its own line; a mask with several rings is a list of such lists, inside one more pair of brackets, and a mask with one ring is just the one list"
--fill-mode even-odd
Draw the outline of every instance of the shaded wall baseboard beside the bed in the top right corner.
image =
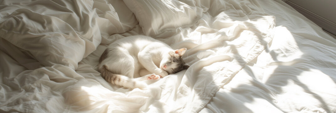
[[311, 20], [312, 22], [314, 22], [315, 24], [317, 24], [318, 26], [320, 26], [322, 29], [336, 35], [336, 24], [327, 20], [326, 18], [315, 14], [289, 0], [283, 0], [285, 3], [287, 3], [288, 5], [292, 6], [295, 10], [297, 10], [298, 12], [300, 12], [302, 15], [304, 15], [305, 17], [307, 17], [309, 20]]

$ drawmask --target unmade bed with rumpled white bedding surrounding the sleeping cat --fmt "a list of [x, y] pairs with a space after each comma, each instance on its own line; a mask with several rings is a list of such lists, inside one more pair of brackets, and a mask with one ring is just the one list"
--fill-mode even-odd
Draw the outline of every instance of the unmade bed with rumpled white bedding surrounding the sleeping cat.
[[[281, 0], [3, 0], [0, 112], [336, 112], [336, 40]], [[106, 82], [115, 40], [187, 48], [147, 90]]]

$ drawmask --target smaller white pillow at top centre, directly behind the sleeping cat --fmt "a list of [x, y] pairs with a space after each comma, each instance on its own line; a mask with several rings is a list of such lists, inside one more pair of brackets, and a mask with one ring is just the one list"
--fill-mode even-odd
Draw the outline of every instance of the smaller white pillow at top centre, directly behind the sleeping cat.
[[190, 27], [202, 17], [193, 0], [124, 0], [135, 14], [142, 31], [153, 36], [178, 27]]

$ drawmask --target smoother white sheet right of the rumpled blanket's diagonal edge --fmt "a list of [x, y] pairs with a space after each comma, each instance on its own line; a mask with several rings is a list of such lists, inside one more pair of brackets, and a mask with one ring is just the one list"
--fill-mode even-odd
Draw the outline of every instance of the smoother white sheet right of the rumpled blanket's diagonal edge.
[[269, 48], [202, 112], [335, 113], [336, 40], [281, 0], [259, 3], [277, 19]]

